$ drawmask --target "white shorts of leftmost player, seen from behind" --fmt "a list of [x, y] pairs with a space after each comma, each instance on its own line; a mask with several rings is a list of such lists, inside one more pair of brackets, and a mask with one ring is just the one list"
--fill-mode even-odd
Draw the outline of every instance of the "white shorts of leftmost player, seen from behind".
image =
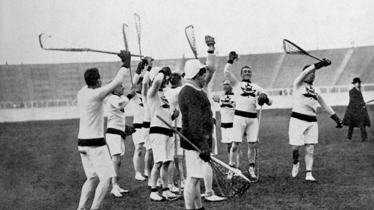
[[100, 147], [78, 146], [78, 150], [87, 178], [99, 177], [102, 180], [117, 176], [106, 145]]

